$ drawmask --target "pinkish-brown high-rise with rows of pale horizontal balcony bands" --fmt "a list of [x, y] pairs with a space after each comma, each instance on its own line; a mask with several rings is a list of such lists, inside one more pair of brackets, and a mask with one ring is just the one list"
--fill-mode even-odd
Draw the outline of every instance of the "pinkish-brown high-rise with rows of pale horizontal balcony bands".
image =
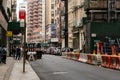
[[44, 0], [27, 2], [27, 42], [43, 42]]

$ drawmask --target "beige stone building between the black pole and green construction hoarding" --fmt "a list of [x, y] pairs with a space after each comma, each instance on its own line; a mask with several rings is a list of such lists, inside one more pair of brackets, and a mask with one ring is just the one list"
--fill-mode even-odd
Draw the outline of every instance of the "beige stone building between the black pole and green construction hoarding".
[[84, 0], [68, 1], [68, 46], [75, 50], [81, 50], [84, 45], [83, 19], [85, 17]]

